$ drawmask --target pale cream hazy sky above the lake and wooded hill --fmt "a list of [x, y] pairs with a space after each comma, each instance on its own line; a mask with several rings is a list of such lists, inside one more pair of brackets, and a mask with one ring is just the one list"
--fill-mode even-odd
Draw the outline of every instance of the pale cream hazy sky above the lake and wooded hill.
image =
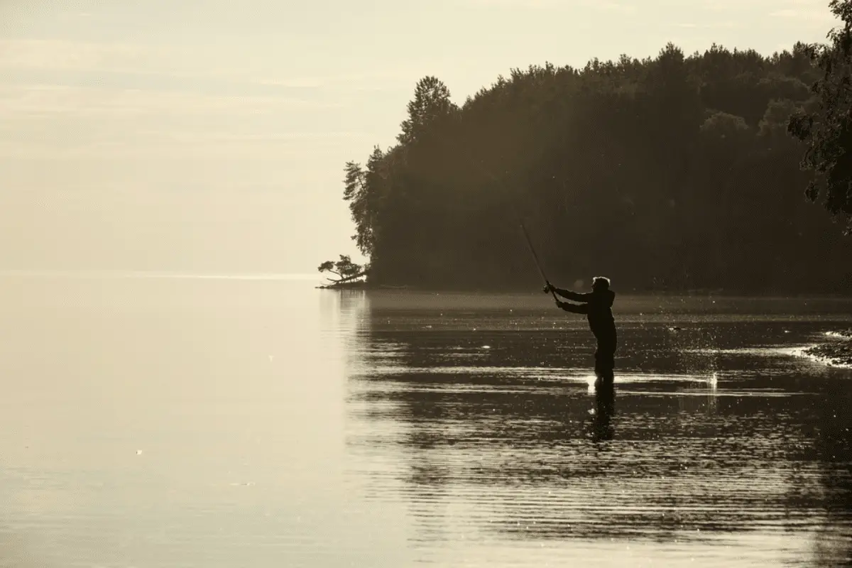
[[310, 273], [354, 253], [343, 164], [417, 79], [462, 102], [550, 60], [769, 54], [828, 0], [3, 0], [0, 270]]

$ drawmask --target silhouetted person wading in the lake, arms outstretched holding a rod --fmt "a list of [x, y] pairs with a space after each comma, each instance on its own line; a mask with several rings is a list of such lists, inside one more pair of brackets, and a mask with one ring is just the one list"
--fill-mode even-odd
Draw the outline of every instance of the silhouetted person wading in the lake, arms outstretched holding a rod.
[[585, 294], [562, 290], [548, 282], [544, 292], [556, 293], [568, 300], [579, 301], [572, 304], [556, 300], [556, 306], [571, 313], [584, 313], [589, 319], [589, 327], [597, 340], [595, 351], [595, 374], [601, 382], [612, 384], [615, 368], [615, 347], [618, 343], [618, 333], [615, 330], [613, 318], [613, 301], [615, 292], [609, 290], [609, 278], [596, 276], [591, 281], [591, 291]]

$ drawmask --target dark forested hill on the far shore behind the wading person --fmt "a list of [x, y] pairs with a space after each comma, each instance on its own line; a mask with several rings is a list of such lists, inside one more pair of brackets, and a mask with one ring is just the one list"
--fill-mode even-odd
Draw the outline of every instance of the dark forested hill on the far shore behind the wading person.
[[852, 242], [804, 195], [792, 115], [819, 109], [813, 49], [713, 45], [512, 70], [454, 104], [424, 77], [394, 146], [346, 164], [372, 284], [852, 291]]

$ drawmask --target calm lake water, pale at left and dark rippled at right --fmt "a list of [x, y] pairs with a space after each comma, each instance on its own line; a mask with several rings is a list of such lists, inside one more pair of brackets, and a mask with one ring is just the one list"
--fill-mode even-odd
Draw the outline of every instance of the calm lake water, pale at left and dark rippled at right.
[[0, 286], [4, 568], [852, 561], [852, 301]]

